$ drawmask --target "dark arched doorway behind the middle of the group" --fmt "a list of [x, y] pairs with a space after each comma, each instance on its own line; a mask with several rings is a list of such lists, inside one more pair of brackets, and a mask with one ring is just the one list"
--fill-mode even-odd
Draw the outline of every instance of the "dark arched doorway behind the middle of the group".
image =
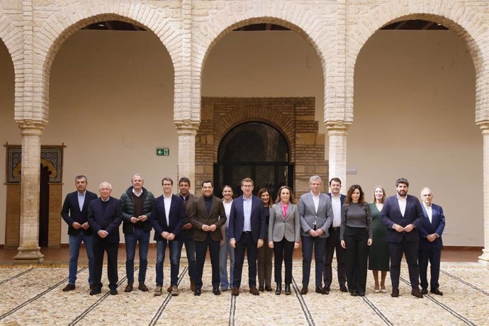
[[288, 149], [286, 138], [266, 123], [242, 123], [232, 128], [220, 142], [214, 164], [215, 195], [221, 196], [221, 187], [229, 184], [235, 196], [240, 196], [241, 180], [246, 177], [254, 181], [254, 194], [266, 187], [275, 198], [281, 186], [293, 188]]

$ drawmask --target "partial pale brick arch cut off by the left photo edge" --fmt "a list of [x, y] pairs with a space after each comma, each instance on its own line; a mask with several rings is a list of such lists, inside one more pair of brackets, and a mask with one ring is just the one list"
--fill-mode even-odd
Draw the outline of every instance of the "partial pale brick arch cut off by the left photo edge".
[[3, 42], [13, 62], [13, 74], [15, 76], [15, 103], [14, 112], [17, 120], [22, 111], [22, 87], [23, 87], [23, 38], [22, 28], [13, 25], [8, 16], [0, 13], [0, 42]]

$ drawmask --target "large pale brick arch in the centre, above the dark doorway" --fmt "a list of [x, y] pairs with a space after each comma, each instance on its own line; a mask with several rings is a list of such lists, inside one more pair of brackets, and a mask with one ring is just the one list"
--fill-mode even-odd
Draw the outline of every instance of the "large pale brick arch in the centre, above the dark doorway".
[[[244, 5], [245, 4], [245, 5]], [[325, 15], [325, 14], [323, 14]], [[335, 85], [326, 83], [328, 75], [333, 76], [334, 72], [329, 72], [335, 67], [337, 57], [336, 49], [331, 44], [331, 39], [325, 38], [324, 33], [327, 27], [320, 28], [320, 24], [314, 23], [327, 20], [327, 16], [322, 16], [313, 11], [306, 11], [300, 4], [292, 1], [245, 1], [245, 3], [229, 1], [225, 3], [225, 8], [220, 12], [214, 13], [212, 23], [196, 28], [192, 35], [193, 60], [196, 62], [194, 67], [195, 77], [193, 80], [191, 117], [200, 120], [200, 98], [203, 65], [206, 62], [210, 50], [219, 40], [235, 28], [240, 28], [253, 23], [274, 23], [289, 28], [301, 35], [314, 48], [322, 65], [323, 80], [325, 81], [324, 93], [335, 94]], [[325, 95], [326, 96], [326, 95]], [[325, 106], [334, 105], [334, 102], [325, 101]]]

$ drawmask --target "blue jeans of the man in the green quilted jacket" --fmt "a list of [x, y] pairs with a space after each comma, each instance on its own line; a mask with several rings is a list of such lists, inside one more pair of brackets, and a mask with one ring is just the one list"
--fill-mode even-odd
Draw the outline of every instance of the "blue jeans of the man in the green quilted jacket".
[[136, 243], [139, 242], [139, 276], [137, 281], [145, 283], [147, 270], [147, 250], [150, 247], [150, 232], [135, 227], [133, 233], [125, 234], [125, 274], [128, 283], [134, 283], [134, 257], [136, 254]]

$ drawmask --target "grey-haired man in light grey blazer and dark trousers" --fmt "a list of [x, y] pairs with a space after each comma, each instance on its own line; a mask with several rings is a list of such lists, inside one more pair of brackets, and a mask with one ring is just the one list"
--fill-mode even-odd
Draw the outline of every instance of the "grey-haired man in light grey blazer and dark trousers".
[[333, 209], [331, 199], [327, 194], [321, 193], [322, 181], [320, 176], [311, 176], [309, 179], [310, 192], [300, 196], [298, 205], [302, 240], [302, 289], [300, 294], [308, 293], [310, 278], [310, 263], [314, 257], [316, 262], [316, 293], [326, 294], [322, 288], [322, 271], [324, 269], [323, 257], [326, 249], [326, 238], [330, 235], [328, 230], [333, 223]]

